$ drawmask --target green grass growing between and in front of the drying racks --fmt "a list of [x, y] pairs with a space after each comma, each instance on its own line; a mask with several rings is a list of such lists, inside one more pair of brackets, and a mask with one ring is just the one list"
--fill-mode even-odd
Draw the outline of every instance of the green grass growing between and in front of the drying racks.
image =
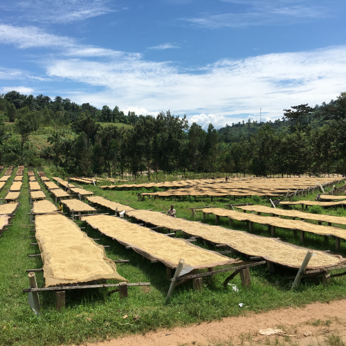
[[[49, 168], [45, 169], [48, 176]], [[21, 290], [28, 287], [28, 268], [42, 267], [41, 257], [28, 257], [29, 254], [39, 253], [37, 246], [30, 246], [29, 215], [30, 204], [28, 195], [28, 176], [25, 170], [21, 196], [21, 206], [17, 210], [12, 227], [0, 238], [0, 345], [62, 345], [84, 343], [86, 340], [96, 341], [124, 336], [127, 334], [144, 334], [162, 327], [184, 326], [210, 320], [221, 320], [226, 316], [239, 316], [246, 311], [268, 311], [279, 307], [300, 307], [309, 302], [329, 302], [345, 298], [345, 277], [331, 280], [329, 286], [323, 286], [319, 280], [303, 280], [297, 291], [291, 291], [291, 282], [283, 277], [292, 275], [292, 271], [277, 267], [275, 273], [270, 273], [266, 266], [251, 268], [251, 287], [242, 287], [237, 275], [232, 281], [239, 291], [235, 292], [223, 282], [227, 273], [214, 277], [203, 277], [203, 291], [192, 290], [192, 284], [185, 284], [174, 291], [168, 304], [165, 304], [169, 282], [165, 280], [165, 266], [161, 263], [150, 264], [134, 251], [128, 251], [124, 246], [100, 235], [98, 231], [86, 227], [89, 237], [100, 238], [99, 244], [109, 245], [107, 256], [112, 260], [129, 260], [129, 264], [117, 264], [120, 275], [130, 282], [151, 282], [149, 287], [129, 288], [129, 297], [119, 299], [118, 293], [108, 295], [109, 289], [86, 289], [66, 291], [66, 308], [59, 313], [55, 311], [54, 293], [40, 293], [42, 310], [40, 316], [35, 316], [28, 306], [27, 296]], [[36, 170], [35, 170], [36, 172]], [[3, 174], [4, 172], [2, 172]], [[0, 192], [4, 197], [12, 179]], [[172, 201], [145, 199], [137, 201], [137, 191], [103, 191], [98, 186], [85, 185], [86, 190], [104, 196], [120, 203], [126, 203], [135, 208], [167, 210]], [[42, 188], [49, 196], [45, 188]], [[311, 195], [309, 198], [313, 198]], [[265, 203], [265, 200], [239, 199]], [[191, 213], [186, 208], [192, 206], [224, 206], [228, 199], [211, 202], [188, 199], [175, 202], [174, 208], [178, 217], [191, 219]], [[345, 212], [343, 210], [343, 212]], [[329, 211], [329, 214], [331, 212]], [[222, 226], [228, 227], [222, 221]], [[208, 223], [214, 224], [212, 218]], [[81, 225], [82, 226], [82, 225]], [[83, 225], [84, 226], [84, 225]], [[242, 223], [234, 222], [237, 229], [245, 229]], [[253, 233], [269, 236], [268, 229], [263, 226], [253, 227]], [[277, 229], [277, 236], [299, 244], [298, 237], [287, 230]], [[334, 244], [331, 241], [328, 249]], [[198, 246], [215, 250], [212, 246]], [[346, 247], [341, 243], [340, 252], [346, 255]], [[327, 249], [322, 237], [307, 235], [304, 246]], [[233, 256], [235, 257], [235, 256]], [[237, 256], [238, 257], [238, 256]], [[242, 257], [241, 257], [242, 258]], [[242, 258], [245, 260], [245, 258]], [[38, 286], [44, 286], [43, 273], [36, 273]], [[240, 308], [239, 303], [244, 303]], [[124, 318], [125, 316], [127, 318]], [[136, 316], [136, 317], [135, 317]], [[139, 316], [139, 317], [138, 317]], [[213, 344], [210, 344], [213, 345]], [[217, 344], [215, 344], [217, 345]], [[230, 345], [230, 343], [219, 343]], [[337, 340], [329, 340], [330, 346], [343, 346]]]

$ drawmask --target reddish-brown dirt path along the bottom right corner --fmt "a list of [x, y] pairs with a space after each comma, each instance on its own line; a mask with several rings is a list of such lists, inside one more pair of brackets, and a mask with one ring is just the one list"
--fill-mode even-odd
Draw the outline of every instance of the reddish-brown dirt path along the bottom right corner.
[[[280, 328], [288, 336], [263, 336], [260, 329]], [[88, 346], [178, 346], [178, 345], [329, 345], [344, 346], [346, 340], [346, 300], [329, 304], [314, 303], [304, 308], [289, 308], [247, 316], [203, 322], [190, 327], [127, 336]]]

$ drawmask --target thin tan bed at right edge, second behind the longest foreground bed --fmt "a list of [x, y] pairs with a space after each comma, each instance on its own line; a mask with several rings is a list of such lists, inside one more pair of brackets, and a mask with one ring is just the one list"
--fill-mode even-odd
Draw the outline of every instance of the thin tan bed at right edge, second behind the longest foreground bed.
[[346, 225], [346, 217], [336, 217], [325, 214], [311, 214], [310, 212], [300, 212], [299, 210], [284, 210], [280, 208], [270, 208], [267, 206], [241, 206], [237, 208], [242, 210], [250, 210], [251, 212], [265, 212], [266, 214], [275, 214], [285, 217], [299, 217], [300, 219], [324, 221], [331, 222], [333, 224]]

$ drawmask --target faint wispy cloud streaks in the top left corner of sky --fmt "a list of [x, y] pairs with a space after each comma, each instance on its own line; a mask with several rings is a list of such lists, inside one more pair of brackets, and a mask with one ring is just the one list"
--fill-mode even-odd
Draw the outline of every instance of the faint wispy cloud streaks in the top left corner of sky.
[[110, 4], [107, 0], [23, 0], [6, 10], [15, 10], [22, 19], [66, 24], [115, 12]]

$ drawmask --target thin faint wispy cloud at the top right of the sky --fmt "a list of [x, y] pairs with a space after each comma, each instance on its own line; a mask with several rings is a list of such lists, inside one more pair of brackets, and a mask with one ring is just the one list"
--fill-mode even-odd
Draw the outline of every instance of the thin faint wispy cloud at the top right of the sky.
[[[292, 1], [238, 1], [222, 0], [245, 6], [243, 12], [228, 12], [221, 15], [181, 18], [203, 28], [245, 27], [293, 24], [302, 19], [317, 19], [330, 16], [328, 6], [292, 5]], [[293, 1], [304, 3], [304, 1]]]

